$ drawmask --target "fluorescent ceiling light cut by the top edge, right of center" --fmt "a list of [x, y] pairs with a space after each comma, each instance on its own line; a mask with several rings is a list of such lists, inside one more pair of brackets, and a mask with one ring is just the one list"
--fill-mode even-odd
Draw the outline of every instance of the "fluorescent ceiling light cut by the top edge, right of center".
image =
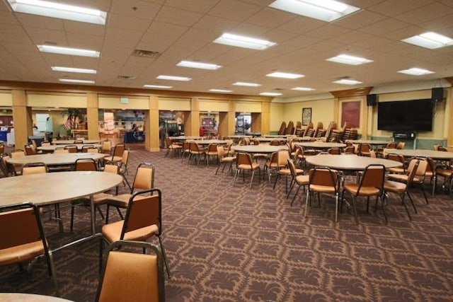
[[360, 8], [334, 0], [277, 0], [269, 5], [289, 13], [332, 22]]

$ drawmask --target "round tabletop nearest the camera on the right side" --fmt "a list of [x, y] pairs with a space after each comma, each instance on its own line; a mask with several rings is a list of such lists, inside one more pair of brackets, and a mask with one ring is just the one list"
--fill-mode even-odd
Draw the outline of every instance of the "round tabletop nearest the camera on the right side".
[[380, 164], [386, 169], [401, 167], [403, 164], [398, 161], [389, 161], [384, 158], [372, 158], [367, 156], [357, 156], [355, 154], [318, 154], [309, 156], [306, 162], [311, 165], [328, 167], [338, 170], [365, 170], [367, 165]]

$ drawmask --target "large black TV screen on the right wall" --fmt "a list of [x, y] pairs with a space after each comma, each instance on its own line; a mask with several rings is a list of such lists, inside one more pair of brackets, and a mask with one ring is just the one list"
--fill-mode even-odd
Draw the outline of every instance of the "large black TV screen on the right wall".
[[410, 132], [432, 131], [431, 100], [378, 103], [377, 129]]

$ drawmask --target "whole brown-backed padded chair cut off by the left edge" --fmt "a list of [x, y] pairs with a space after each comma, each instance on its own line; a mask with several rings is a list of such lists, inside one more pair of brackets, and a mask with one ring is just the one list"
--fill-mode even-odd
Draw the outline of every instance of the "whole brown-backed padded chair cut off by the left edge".
[[38, 207], [30, 203], [0, 207], [0, 266], [22, 265], [44, 256], [47, 271], [57, 289], [57, 278], [52, 251], [47, 245]]

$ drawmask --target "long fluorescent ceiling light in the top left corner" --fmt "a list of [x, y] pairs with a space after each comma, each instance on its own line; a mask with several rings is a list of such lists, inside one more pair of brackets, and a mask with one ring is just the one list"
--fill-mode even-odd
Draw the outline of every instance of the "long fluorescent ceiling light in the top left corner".
[[40, 0], [8, 0], [13, 11], [65, 20], [105, 24], [107, 13], [97, 9]]

